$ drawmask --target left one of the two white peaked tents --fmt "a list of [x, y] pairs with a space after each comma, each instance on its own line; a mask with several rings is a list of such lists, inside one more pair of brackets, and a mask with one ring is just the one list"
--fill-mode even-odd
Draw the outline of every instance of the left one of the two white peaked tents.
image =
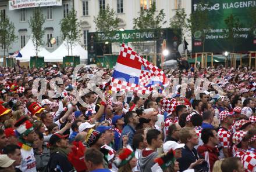
[[[35, 56], [35, 46], [33, 45], [33, 42], [31, 39], [27, 42], [27, 44], [23, 47], [23, 49], [20, 50], [20, 53], [22, 53], [22, 58], [16, 58], [17, 60], [20, 60], [20, 62], [27, 62], [30, 61], [31, 56]], [[44, 56], [45, 58], [48, 57], [50, 52], [48, 52], [45, 47], [40, 47], [38, 56]]]

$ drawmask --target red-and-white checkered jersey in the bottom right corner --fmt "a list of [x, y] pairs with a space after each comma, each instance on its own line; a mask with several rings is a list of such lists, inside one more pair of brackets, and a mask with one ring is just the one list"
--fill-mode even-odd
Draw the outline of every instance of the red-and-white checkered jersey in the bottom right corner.
[[244, 169], [247, 172], [255, 172], [256, 171], [256, 152], [251, 151], [250, 149], [244, 153], [241, 157], [241, 161], [243, 163]]

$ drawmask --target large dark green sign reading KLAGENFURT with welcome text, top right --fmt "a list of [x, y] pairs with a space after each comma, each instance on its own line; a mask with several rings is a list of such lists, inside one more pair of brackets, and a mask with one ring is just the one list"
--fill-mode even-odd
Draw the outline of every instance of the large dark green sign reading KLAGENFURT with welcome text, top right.
[[[198, 9], [201, 0], [192, 0], [192, 13]], [[232, 45], [226, 38], [225, 19], [233, 14], [241, 23], [234, 35], [235, 52], [256, 50], [256, 27], [253, 25], [251, 11], [256, 10], [256, 1], [206, 0], [210, 29], [204, 30], [205, 52], [222, 53], [232, 51]], [[235, 28], [234, 28], [235, 29]], [[202, 32], [195, 31], [193, 36], [193, 53], [202, 52]]]

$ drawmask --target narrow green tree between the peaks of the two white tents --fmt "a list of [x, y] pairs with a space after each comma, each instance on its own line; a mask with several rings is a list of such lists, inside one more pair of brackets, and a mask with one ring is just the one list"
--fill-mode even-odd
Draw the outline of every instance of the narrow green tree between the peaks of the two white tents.
[[33, 15], [29, 20], [29, 27], [31, 28], [31, 37], [35, 46], [36, 56], [38, 56], [38, 51], [40, 50], [41, 46], [44, 45], [44, 42], [42, 41], [42, 37], [44, 36], [42, 25], [44, 24], [44, 21], [44, 14], [42, 14], [41, 8], [34, 8]]

